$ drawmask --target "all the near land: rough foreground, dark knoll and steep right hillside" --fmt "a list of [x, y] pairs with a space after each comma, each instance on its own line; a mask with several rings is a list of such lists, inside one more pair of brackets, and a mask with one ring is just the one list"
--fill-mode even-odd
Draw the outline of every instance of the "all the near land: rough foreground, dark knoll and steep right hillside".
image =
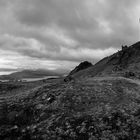
[[65, 79], [0, 83], [0, 140], [140, 140], [140, 42]]

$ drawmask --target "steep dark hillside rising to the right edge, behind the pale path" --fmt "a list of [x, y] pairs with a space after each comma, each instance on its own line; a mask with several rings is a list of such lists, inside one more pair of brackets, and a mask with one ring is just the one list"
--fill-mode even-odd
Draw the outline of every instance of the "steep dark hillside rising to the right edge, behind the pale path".
[[69, 74], [73, 78], [94, 76], [124, 76], [140, 77], [140, 42], [129, 47], [122, 46], [122, 50], [105, 57], [95, 65]]

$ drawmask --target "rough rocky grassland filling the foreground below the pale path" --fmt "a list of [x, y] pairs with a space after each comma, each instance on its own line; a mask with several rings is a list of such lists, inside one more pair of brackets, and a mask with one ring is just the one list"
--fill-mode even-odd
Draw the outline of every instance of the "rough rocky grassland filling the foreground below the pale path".
[[140, 82], [47, 81], [0, 96], [0, 140], [139, 140]]

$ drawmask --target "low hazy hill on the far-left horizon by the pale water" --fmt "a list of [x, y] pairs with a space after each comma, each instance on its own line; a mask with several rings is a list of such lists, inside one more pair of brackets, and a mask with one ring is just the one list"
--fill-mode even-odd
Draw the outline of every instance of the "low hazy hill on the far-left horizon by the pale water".
[[44, 76], [61, 76], [62, 74], [51, 71], [51, 70], [23, 70], [19, 72], [14, 72], [9, 75], [0, 76], [1, 80], [9, 80], [9, 79], [22, 79], [22, 78], [42, 78]]

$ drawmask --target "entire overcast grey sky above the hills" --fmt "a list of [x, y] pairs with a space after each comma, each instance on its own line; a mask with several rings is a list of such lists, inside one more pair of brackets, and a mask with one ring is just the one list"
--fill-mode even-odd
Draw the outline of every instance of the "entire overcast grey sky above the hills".
[[72, 69], [140, 40], [140, 0], [0, 0], [0, 73]]

